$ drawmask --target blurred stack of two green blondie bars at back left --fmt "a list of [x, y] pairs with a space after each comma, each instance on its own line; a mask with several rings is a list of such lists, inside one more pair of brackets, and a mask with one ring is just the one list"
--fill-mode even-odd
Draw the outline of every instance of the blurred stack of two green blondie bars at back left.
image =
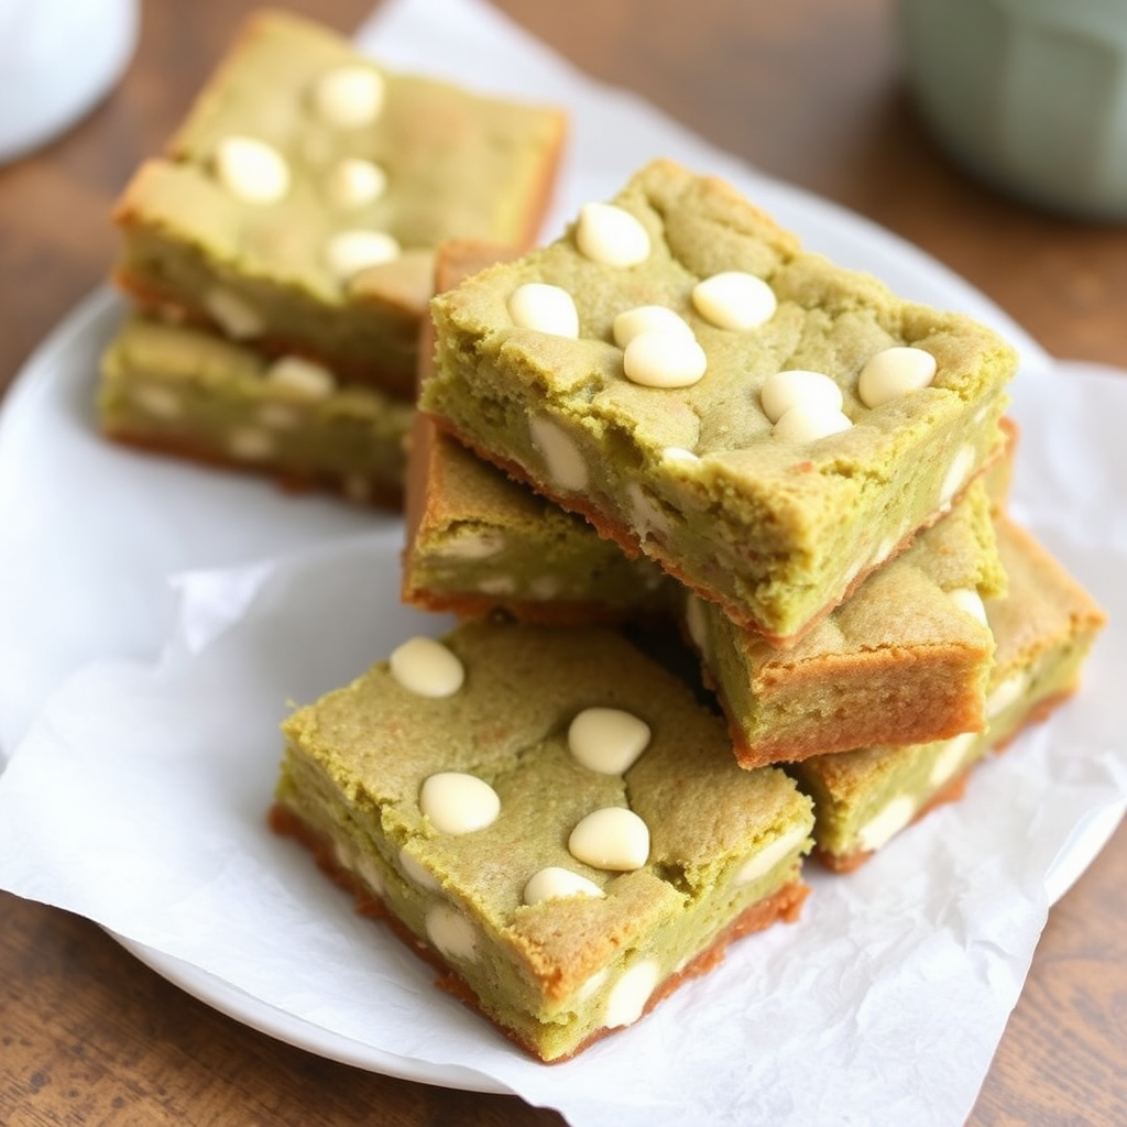
[[435, 248], [533, 241], [565, 131], [256, 15], [118, 202], [103, 431], [399, 506]]

